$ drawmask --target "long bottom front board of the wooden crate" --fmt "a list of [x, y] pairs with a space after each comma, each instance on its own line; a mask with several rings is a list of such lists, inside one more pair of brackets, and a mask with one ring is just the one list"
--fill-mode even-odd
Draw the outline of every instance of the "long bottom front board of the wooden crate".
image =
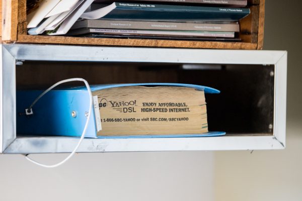
[[205, 48], [205, 49], [257, 49], [257, 43], [215, 42], [215, 41], [180, 41], [150, 39], [112, 39], [80, 38], [66, 36], [18, 35], [16, 43], [64, 44], [64, 45], [102, 45], [132, 47], [171, 47], [171, 48]]

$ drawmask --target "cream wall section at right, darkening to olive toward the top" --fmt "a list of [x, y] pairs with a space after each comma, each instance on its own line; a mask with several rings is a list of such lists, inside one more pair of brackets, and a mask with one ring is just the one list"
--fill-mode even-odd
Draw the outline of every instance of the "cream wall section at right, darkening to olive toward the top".
[[215, 152], [215, 200], [302, 200], [302, 3], [265, 6], [264, 49], [288, 51], [286, 148]]

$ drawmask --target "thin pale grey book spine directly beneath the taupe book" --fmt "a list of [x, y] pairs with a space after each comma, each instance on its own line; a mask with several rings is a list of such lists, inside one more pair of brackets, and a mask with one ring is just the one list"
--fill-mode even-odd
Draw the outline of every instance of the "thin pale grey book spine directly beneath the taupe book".
[[91, 33], [110, 34], [136, 34], [136, 35], [168, 35], [168, 36], [197, 36], [197, 37], [222, 37], [234, 38], [233, 32], [185, 32], [185, 31], [153, 31], [153, 30], [129, 30], [129, 29], [89, 29]]

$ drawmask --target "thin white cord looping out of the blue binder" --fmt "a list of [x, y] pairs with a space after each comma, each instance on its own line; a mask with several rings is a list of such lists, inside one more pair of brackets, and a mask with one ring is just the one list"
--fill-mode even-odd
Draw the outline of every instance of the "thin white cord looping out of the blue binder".
[[59, 81], [59, 82], [53, 84], [53, 85], [50, 86], [48, 89], [46, 89], [43, 93], [41, 93], [41, 94], [34, 100], [34, 102], [32, 103], [32, 105], [31, 105], [28, 109], [26, 109], [28, 112], [31, 112], [31, 111], [32, 111], [32, 107], [38, 102], [38, 100], [39, 100], [43, 95], [45, 95], [45, 93], [47, 93], [47, 92], [50, 91], [52, 88], [56, 87], [57, 85], [59, 85], [59, 84], [61, 84], [61, 83], [70, 82], [70, 81], [83, 81], [83, 82], [85, 83], [86, 87], [87, 87], [87, 90], [88, 90], [88, 93], [89, 93], [89, 102], [90, 102], [90, 104], [89, 104], [89, 112], [88, 112], [87, 121], [86, 121], [84, 130], [83, 130], [83, 133], [82, 133], [82, 135], [81, 135], [81, 138], [80, 138], [80, 140], [79, 140], [77, 146], [75, 146], [75, 148], [73, 149], [73, 151], [72, 151], [72, 152], [71, 152], [64, 160], [62, 160], [61, 162], [59, 162], [59, 163], [57, 163], [57, 164], [54, 164], [54, 165], [44, 165], [44, 164], [41, 164], [41, 163], [39, 163], [39, 162], [37, 162], [37, 161], [35, 161], [35, 160], [29, 158], [29, 157], [28, 157], [29, 154], [26, 154], [26, 155], [25, 155], [25, 158], [26, 158], [27, 160], [29, 160], [29, 161], [31, 161], [31, 162], [37, 164], [37, 165], [40, 165], [40, 166], [42, 166], [42, 167], [52, 168], [52, 167], [57, 167], [57, 166], [59, 166], [59, 165], [65, 163], [68, 159], [70, 159], [70, 158], [73, 156], [73, 154], [74, 154], [74, 153], [77, 151], [77, 149], [79, 148], [79, 146], [80, 146], [80, 144], [81, 144], [81, 142], [82, 142], [82, 140], [83, 140], [83, 138], [84, 138], [84, 136], [85, 136], [85, 133], [86, 133], [86, 130], [87, 130], [87, 127], [88, 127], [88, 124], [89, 124], [89, 119], [90, 119], [90, 116], [91, 116], [92, 103], [93, 103], [91, 89], [90, 89], [90, 86], [89, 86], [88, 82], [87, 82], [85, 79], [83, 79], [83, 78], [70, 78], [70, 79], [64, 79], [64, 80], [62, 80], [62, 81]]

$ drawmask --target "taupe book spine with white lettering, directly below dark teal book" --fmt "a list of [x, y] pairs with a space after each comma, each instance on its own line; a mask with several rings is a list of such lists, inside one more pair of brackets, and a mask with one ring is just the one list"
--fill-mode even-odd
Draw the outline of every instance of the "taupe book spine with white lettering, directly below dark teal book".
[[87, 28], [239, 32], [239, 24], [87, 20]]

